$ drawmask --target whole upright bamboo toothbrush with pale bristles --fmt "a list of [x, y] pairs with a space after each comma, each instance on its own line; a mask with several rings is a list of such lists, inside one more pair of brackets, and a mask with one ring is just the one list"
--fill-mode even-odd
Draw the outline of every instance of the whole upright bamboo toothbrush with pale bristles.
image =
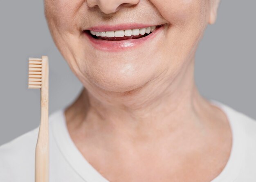
[[48, 57], [29, 58], [29, 86], [40, 88], [41, 121], [36, 143], [35, 182], [49, 182], [49, 66]]

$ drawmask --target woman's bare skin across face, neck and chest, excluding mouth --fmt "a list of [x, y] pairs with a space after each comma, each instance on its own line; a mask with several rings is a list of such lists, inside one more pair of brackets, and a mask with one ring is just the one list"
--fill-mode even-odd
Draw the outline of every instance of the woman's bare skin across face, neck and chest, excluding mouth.
[[[84, 90], [66, 110], [76, 147], [111, 182], [210, 182], [232, 136], [220, 108], [200, 95], [195, 51], [219, 0], [45, 0], [52, 37]], [[82, 30], [165, 24], [138, 48], [94, 49]]]

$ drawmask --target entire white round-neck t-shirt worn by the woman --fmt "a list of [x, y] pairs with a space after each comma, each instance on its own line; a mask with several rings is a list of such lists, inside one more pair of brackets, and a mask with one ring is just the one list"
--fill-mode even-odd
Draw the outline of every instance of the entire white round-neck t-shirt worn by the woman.
[[[256, 182], [256, 121], [219, 101], [209, 101], [225, 112], [233, 135], [229, 160], [211, 182]], [[74, 145], [64, 109], [49, 116], [49, 181], [109, 182]], [[34, 182], [37, 136], [38, 127], [0, 146], [0, 182]]]

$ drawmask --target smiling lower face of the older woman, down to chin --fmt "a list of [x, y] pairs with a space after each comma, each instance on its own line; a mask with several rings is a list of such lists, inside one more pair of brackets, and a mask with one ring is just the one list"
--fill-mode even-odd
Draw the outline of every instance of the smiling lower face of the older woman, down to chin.
[[[45, 0], [45, 15], [56, 46], [84, 86], [124, 92], [153, 79], [172, 78], [193, 59], [205, 27], [213, 21], [213, 1]], [[145, 37], [121, 41], [113, 41], [111, 32], [110, 40], [103, 40], [107, 38], [85, 31], [154, 25], [163, 26]]]

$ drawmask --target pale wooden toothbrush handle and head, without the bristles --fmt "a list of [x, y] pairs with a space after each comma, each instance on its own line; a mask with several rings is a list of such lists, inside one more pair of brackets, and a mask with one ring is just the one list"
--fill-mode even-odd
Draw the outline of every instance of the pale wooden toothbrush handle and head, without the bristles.
[[35, 182], [49, 182], [49, 68], [42, 56], [41, 121], [36, 143]]

